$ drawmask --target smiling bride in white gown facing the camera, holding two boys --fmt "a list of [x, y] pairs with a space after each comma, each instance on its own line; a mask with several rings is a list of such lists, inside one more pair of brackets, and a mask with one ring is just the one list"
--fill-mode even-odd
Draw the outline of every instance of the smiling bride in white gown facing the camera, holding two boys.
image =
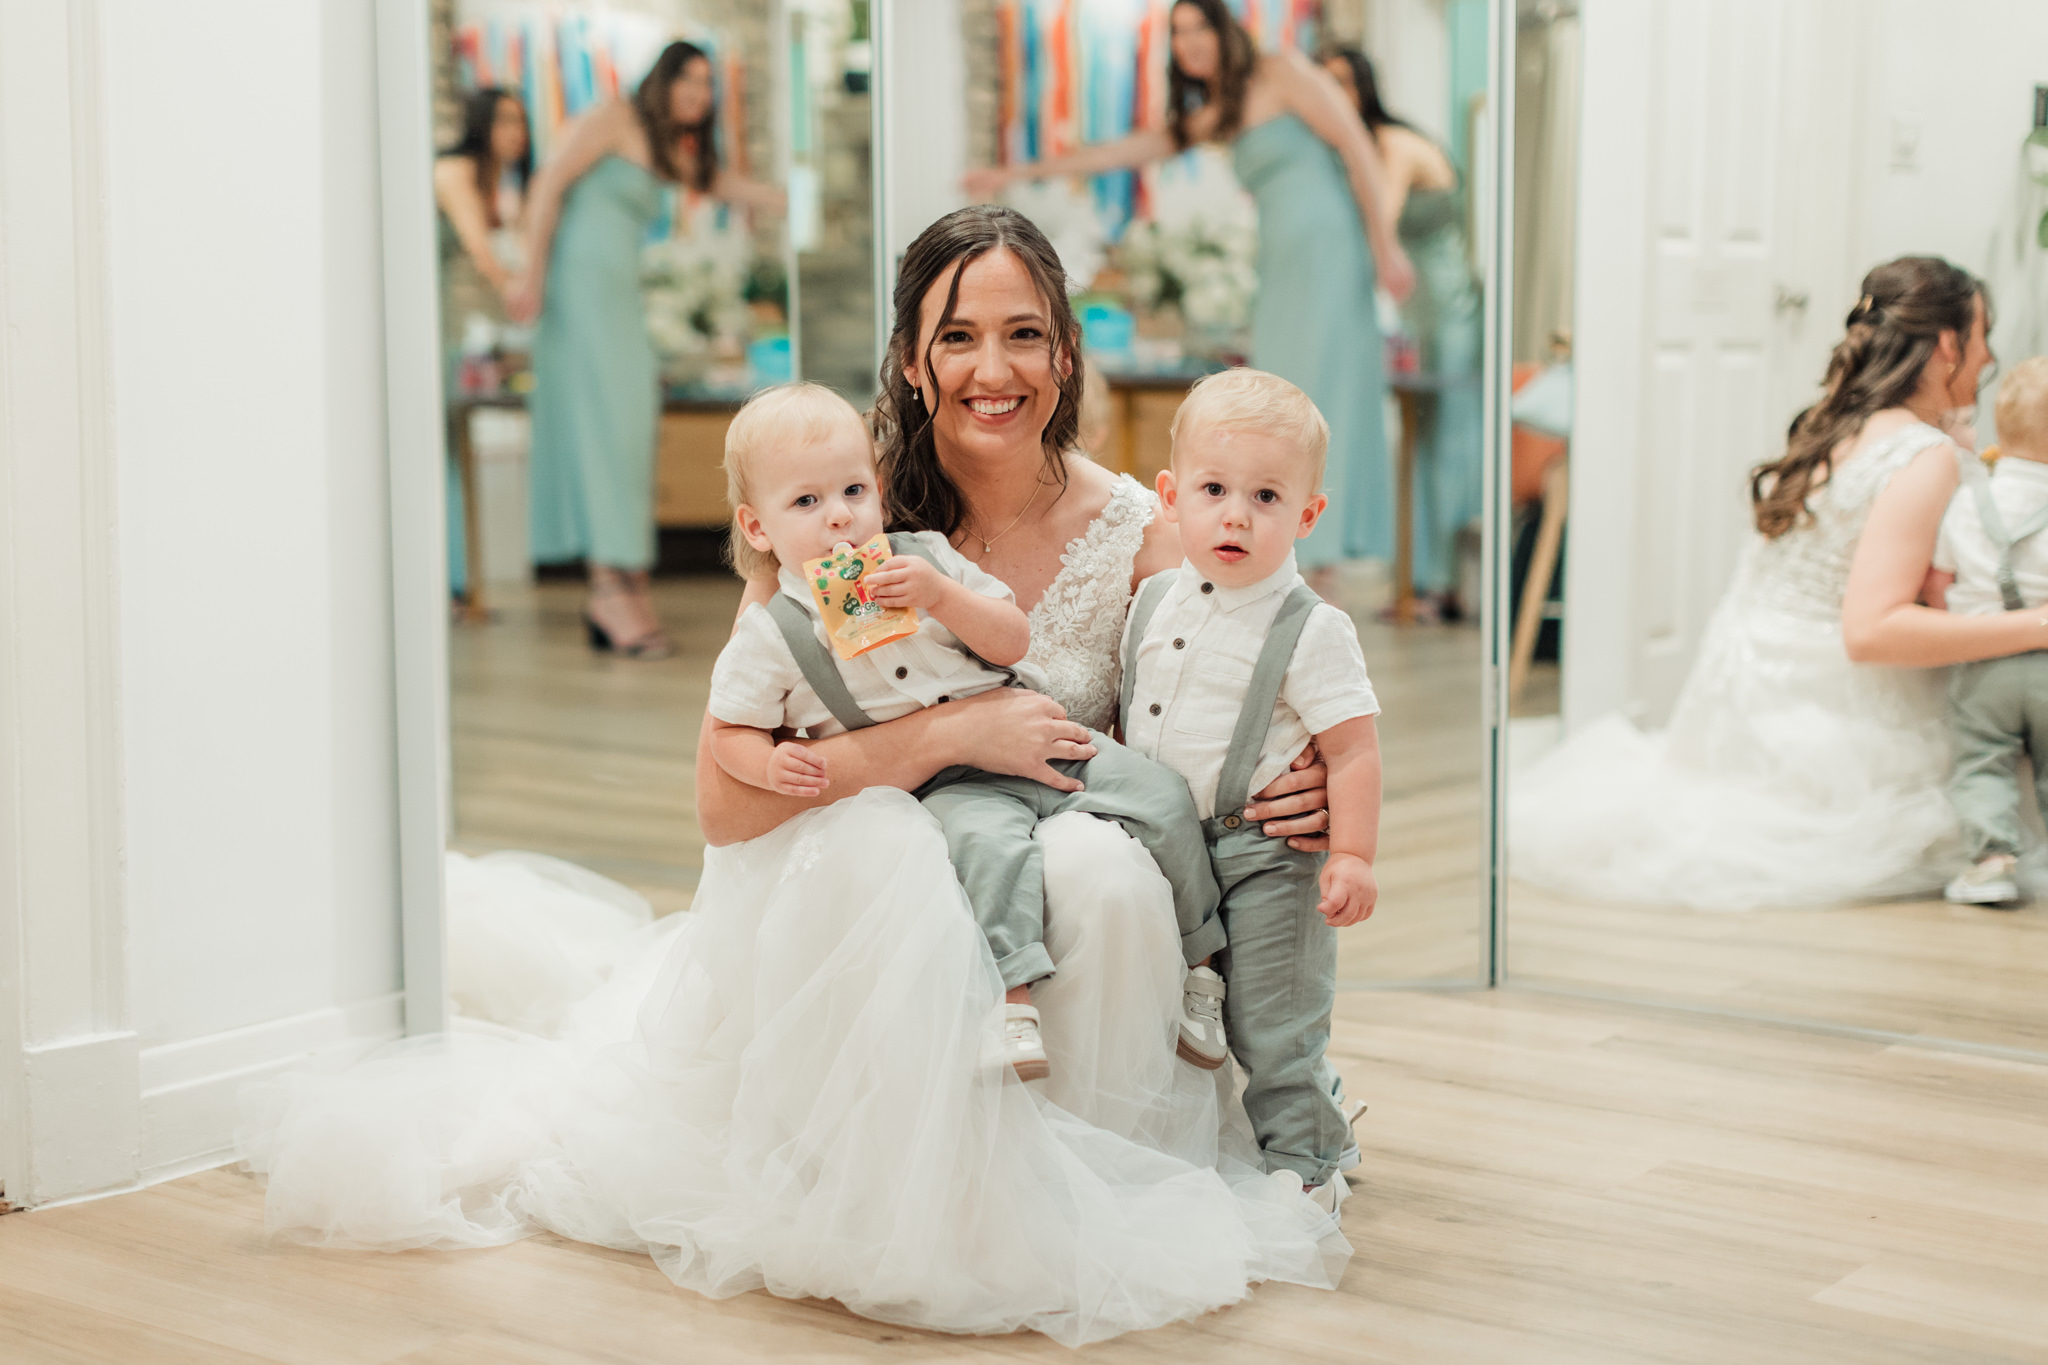
[[[1116, 825], [1038, 829], [1051, 1078], [979, 1064], [1001, 978], [907, 790], [950, 763], [1071, 786], [1049, 761], [1108, 729], [1133, 585], [1180, 546], [1141, 485], [1063, 454], [1077, 325], [1028, 219], [928, 227], [895, 317], [877, 403], [893, 524], [948, 532], [1016, 589], [1053, 696], [997, 690], [819, 741], [831, 790], [858, 792], [829, 806], [733, 782], [700, 741], [715, 847], [692, 911], [659, 925], [565, 864], [453, 860], [451, 984], [520, 1027], [254, 1095], [242, 1148], [272, 1230], [399, 1248], [547, 1228], [711, 1295], [1067, 1345], [1260, 1279], [1335, 1285], [1350, 1246], [1331, 1216], [1264, 1177], [1233, 1095], [1174, 1056], [1169, 892]], [[1300, 847], [1327, 823], [1307, 759], [1253, 810]]]

